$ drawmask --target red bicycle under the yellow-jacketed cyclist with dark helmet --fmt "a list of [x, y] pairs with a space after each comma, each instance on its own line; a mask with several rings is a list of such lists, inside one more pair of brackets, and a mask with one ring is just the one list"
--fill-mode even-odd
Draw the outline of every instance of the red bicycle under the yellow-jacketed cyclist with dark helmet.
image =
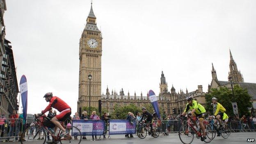
[[[197, 131], [194, 128], [194, 124], [192, 124], [192, 122], [190, 120], [191, 118], [189, 116], [185, 115], [185, 118], [181, 117], [181, 119], [183, 120], [183, 122], [185, 121], [185, 124], [183, 126], [181, 126], [178, 135], [183, 144], [191, 144], [194, 140], [194, 134], [196, 134], [196, 137], [198, 139], [203, 137], [203, 132], [202, 132], [201, 128], [199, 131]], [[210, 127], [205, 125], [206, 139], [204, 139], [204, 142], [206, 142], [206, 143], [211, 142], [213, 139], [213, 133], [209, 133], [208, 132], [209, 130], [210, 130]], [[186, 138], [189, 139], [189, 140], [187, 140], [187, 142], [186, 142]]]

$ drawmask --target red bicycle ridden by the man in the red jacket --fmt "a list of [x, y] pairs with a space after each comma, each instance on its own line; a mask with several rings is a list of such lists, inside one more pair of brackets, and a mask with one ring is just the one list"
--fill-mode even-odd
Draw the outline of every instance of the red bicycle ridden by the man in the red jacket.
[[[41, 117], [43, 117], [43, 119], [49, 120], [49, 118], [46, 116], [41, 116]], [[75, 127], [75, 126], [67, 126], [66, 127], [64, 125], [63, 121], [59, 121], [61, 123], [61, 125], [66, 130], [69, 130], [69, 133], [67, 135], [65, 135], [64, 137], [59, 137], [62, 130], [59, 130], [59, 131], [56, 130], [56, 132], [54, 134], [51, 130], [48, 130], [48, 128], [46, 128], [46, 126], [43, 124], [43, 121], [40, 121], [39, 116], [34, 114], [34, 119], [38, 123], [38, 125], [37, 126], [29, 126], [29, 127], [25, 128], [25, 130], [21, 134], [21, 139], [23, 138], [23, 139], [25, 139], [25, 141], [21, 140], [21, 144], [27, 144], [27, 143], [28, 144], [31, 144], [31, 143], [44, 144], [46, 142], [46, 136], [47, 136], [46, 132], [52, 136], [54, 144], [57, 144], [59, 142], [60, 142], [60, 144], [64, 144], [64, 143], [80, 144], [82, 135], [81, 135], [80, 130], [77, 127]], [[30, 130], [30, 134], [28, 134], [28, 135], [26, 135], [27, 130]], [[42, 138], [40, 138], [40, 137], [42, 137]], [[43, 140], [43, 141], [40, 141], [39, 139]]]

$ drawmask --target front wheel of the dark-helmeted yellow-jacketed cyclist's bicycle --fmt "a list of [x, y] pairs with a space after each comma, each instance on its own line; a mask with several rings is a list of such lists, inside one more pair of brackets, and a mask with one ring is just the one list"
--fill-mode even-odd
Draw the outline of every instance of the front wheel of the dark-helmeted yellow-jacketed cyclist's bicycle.
[[183, 125], [179, 130], [179, 137], [183, 144], [191, 144], [194, 139], [194, 131], [189, 126]]

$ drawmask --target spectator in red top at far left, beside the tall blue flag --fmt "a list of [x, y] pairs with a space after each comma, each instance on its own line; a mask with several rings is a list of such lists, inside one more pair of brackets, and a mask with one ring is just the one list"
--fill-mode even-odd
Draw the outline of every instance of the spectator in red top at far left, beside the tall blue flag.
[[[16, 114], [16, 110], [13, 110], [11, 116], [10, 116], [10, 122], [11, 122], [11, 126], [10, 126], [10, 129], [9, 129], [9, 137], [12, 137], [14, 136], [15, 137], [15, 140], [18, 140], [18, 129], [16, 128], [16, 121], [18, 119], [18, 114]], [[7, 141], [9, 141], [9, 138], [7, 138]]]

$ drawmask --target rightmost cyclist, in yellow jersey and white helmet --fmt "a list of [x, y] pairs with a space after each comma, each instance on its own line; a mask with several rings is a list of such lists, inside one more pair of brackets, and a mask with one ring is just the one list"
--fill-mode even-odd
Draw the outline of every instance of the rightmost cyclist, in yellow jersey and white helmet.
[[[221, 119], [223, 118], [224, 112], [226, 112], [226, 109], [220, 103], [217, 102], [217, 98], [213, 97], [212, 102], [213, 102], [214, 116], [219, 121], [220, 126], [222, 126], [222, 120]], [[217, 123], [216, 120], [215, 120], [215, 123]]]

